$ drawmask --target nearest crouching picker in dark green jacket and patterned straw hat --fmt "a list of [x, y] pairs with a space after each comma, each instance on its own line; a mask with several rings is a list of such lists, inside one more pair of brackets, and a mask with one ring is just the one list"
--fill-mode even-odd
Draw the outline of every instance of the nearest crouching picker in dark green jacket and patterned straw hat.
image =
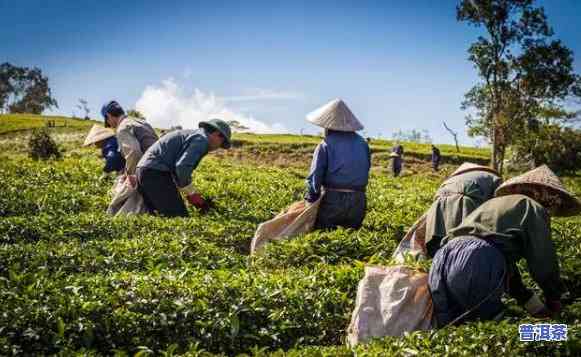
[[[541, 166], [515, 177], [442, 240], [429, 273], [436, 325], [502, 316], [504, 292], [531, 315], [560, 312], [565, 293], [551, 240], [550, 216], [578, 214], [581, 203], [555, 174]], [[545, 301], [522, 282], [526, 261]]]

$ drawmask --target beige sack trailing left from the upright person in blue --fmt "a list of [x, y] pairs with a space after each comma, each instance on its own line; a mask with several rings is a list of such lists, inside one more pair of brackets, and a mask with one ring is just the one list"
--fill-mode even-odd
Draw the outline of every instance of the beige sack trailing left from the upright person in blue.
[[261, 223], [252, 238], [250, 254], [256, 253], [269, 241], [287, 239], [313, 230], [322, 197], [313, 203], [295, 202], [270, 221]]

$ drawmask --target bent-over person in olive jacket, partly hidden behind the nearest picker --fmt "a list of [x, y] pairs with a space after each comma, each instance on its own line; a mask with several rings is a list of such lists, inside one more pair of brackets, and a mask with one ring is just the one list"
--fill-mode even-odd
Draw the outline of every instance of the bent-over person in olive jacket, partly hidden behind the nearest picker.
[[469, 162], [463, 163], [444, 181], [426, 213], [426, 250], [433, 257], [442, 239], [478, 206], [494, 196], [502, 183], [493, 169]]

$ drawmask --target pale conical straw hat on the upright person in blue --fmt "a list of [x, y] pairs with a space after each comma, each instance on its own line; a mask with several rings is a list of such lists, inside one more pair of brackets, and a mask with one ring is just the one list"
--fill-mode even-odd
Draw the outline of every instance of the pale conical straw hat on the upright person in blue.
[[335, 99], [319, 109], [307, 114], [307, 120], [325, 129], [337, 131], [362, 130], [363, 125], [349, 107], [341, 100]]

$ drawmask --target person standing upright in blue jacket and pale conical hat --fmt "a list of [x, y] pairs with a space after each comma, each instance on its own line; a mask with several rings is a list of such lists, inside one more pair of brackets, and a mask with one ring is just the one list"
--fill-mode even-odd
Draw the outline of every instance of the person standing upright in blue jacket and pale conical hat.
[[307, 202], [317, 201], [324, 192], [315, 228], [360, 228], [371, 167], [369, 145], [356, 133], [363, 125], [340, 99], [309, 114], [307, 120], [325, 129], [306, 179]]

